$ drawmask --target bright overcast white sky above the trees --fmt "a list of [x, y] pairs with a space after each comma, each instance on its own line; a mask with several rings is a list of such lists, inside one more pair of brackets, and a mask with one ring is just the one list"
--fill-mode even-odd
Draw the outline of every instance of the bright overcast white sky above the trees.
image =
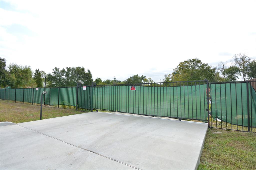
[[93, 79], [159, 82], [195, 57], [256, 58], [255, 9], [255, 0], [1, 0], [0, 56], [33, 71], [83, 66]]

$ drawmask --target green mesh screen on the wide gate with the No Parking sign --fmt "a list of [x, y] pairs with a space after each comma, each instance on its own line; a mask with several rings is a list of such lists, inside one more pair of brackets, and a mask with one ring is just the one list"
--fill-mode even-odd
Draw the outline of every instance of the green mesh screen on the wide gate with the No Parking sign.
[[177, 87], [115, 85], [93, 88], [93, 108], [207, 120], [206, 84]]

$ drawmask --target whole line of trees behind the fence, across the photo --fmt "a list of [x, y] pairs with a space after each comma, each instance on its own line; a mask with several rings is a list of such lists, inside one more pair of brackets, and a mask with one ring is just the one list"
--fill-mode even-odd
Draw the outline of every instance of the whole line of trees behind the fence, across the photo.
[[[236, 54], [231, 63], [220, 62], [218, 67], [213, 67], [207, 63], [202, 63], [200, 59], [193, 58], [180, 62], [171, 74], [164, 75], [164, 82], [171, 81], [194, 81], [208, 79], [210, 82], [237, 81], [239, 77], [243, 81], [256, 78], [256, 61], [245, 54]], [[86, 85], [93, 81], [100, 85], [105, 84], [138, 84], [154, 83], [152, 78], [144, 75], [133, 75], [124, 81], [92, 79], [92, 73], [84, 67], [66, 67], [52, 69], [46, 74], [43, 70], [36, 69], [34, 72], [30, 66], [21, 66], [10, 63], [6, 66], [5, 58], [0, 58], [0, 86], [1, 88], [30, 88], [44, 87], [46, 77], [46, 87], [72, 87], [76, 86], [78, 80], [82, 80]]]

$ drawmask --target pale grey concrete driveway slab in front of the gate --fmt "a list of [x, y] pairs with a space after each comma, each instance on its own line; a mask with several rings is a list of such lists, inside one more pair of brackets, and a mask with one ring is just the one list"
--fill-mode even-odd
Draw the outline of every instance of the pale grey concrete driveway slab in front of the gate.
[[1, 169], [196, 169], [208, 124], [90, 112], [0, 127]]

